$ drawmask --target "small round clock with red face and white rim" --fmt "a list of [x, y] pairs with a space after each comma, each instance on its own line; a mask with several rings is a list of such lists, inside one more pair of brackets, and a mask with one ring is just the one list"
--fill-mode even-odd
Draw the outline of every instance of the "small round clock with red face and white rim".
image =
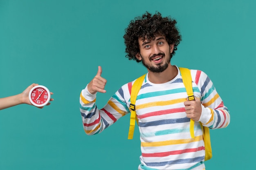
[[37, 85], [29, 91], [29, 100], [34, 106], [45, 106], [50, 101], [50, 99], [50, 91], [45, 86]]

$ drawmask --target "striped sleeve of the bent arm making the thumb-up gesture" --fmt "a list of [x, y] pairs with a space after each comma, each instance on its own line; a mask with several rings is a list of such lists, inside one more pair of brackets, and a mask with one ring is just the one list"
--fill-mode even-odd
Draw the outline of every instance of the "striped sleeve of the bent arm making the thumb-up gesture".
[[96, 105], [96, 94], [90, 94], [87, 86], [80, 94], [80, 112], [83, 128], [88, 135], [95, 135], [114, 124], [120, 117], [130, 113], [124, 99], [127, 84], [122, 86], [101, 109]]

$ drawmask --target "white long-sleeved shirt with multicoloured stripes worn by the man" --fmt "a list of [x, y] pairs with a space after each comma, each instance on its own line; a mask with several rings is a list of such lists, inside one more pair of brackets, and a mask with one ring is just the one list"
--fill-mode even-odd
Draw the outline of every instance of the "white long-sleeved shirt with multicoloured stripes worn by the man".
[[[186, 89], [180, 70], [177, 76], [164, 84], [149, 82], [148, 75], [136, 100], [141, 156], [139, 170], [204, 170], [204, 141], [199, 122], [195, 121], [190, 135], [190, 119], [186, 117], [184, 102]], [[200, 122], [211, 129], [225, 128], [230, 121], [209, 77], [202, 71], [191, 70], [193, 93], [202, 103]], [[87, 87], [80, 95], [80, 111], [85, 133], [95, 135], [130, 113], [130, 92], [134, 81], [124, 84], [108, 103], [98, 109], [96, 94]], [[128, 125], [127, 125], [128, 126]]]

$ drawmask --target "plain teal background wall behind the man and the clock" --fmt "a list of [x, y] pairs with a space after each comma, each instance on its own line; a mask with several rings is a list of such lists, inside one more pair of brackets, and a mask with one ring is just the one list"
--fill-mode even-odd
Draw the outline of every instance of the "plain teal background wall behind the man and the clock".
[[136, 170], [138, 129], [128, 140], [129, 116], [99, 135], [83, 131], [79, 95], [103, 69], [107, 93], [146, 73], [125, 57], [130, 20], [159, 11], [177, 20], [182, 42], [171, 63], [207, 73], [231, 113], [225, 129], [211, 130], [207, 170], [255, 167], [254, 0], [0, 0], [0, 97], [32, 83], [54, 101], [43, 109], [0, 110], [1, 170]]

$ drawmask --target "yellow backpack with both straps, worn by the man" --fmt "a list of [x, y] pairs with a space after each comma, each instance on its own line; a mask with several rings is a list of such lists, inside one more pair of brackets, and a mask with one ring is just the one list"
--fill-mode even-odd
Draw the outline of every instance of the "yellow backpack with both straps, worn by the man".
[[[193, 88], [192, 88], [192, 78], [191, 78], [191, 73], [190, 73], [189, 69], [180, 67], [180, 73], [182, 76], [184, 86], [186, 88], [186, 93], [188, 94], [188, 99], [195, 100], [194, 95], [193, 95]], [[136, 111], [135, 111], [135, 109], [136, 109], [135, 102], [136, 102], [136, 98], [139, 93], [139, 90], [141, 88], [141, 85], [145, 79], [145, 76], [146, 76], [146, 74], [144, 74], [141, 77], [139, 77], [138, 79], [136, 79], [134, 84], [132, 85], [131, 98], [130, 98], [131, 115], [130, 115], [130, 128], [129, 128], [129, 133], [128, 133], [128, 139], [133, 138], [133, 132], [134, 132], [134, 128], [135, 128], [135, 120], [138, 121]], [[210, 131], [209, 131], [208, 127], [202, 126], [201, 122], [199, 122], [199, 123], [203, 130], [203, 139], [204, 139], [204, 148], [205, 148], [204, 161], [207, 161], [207, 160], [211, 159], [211, 157], [212, 157]], [[194, 124], [195, 124], [195, 121], [190, 119], [190, 135], [192, 138], [195, 138]]]

